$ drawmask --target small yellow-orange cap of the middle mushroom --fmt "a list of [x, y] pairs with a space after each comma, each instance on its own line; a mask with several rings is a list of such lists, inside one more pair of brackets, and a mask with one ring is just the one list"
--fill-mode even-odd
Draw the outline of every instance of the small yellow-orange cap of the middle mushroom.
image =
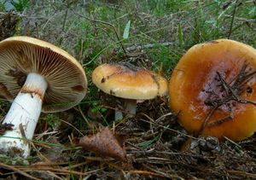
[[92, 82], [105, 93], [125, 99], [154, 99], [156, 96], [167, 96], [168, 90], [166, 78], [129, 63], [96, 67]]

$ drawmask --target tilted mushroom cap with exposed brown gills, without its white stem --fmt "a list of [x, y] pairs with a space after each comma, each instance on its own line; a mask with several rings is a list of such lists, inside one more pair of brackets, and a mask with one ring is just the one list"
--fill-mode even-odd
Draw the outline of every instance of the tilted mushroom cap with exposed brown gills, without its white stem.
[[43, 112], [64, 111], [85, 96], [87, 79], [83, 67], [63, 49], [42, 40], [12, 37], [0, 42], [0, 97], [12, 101], [28, 73], [42, 75], [48, 88]]

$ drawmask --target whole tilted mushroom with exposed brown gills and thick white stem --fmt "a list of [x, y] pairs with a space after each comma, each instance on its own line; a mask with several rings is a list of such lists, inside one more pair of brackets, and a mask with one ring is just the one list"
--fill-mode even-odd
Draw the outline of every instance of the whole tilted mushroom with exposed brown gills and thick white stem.
[[26, 140], [32, 140], [41, 109], [52, 113], [77, 105], [86, 94], [86, 76], [66, 51], [29, 37], [3, 40], [0, 64], [0, 97], [14, 100], [3, 119], [13, 130], [0, 137], [0, 149], [26, 158]]

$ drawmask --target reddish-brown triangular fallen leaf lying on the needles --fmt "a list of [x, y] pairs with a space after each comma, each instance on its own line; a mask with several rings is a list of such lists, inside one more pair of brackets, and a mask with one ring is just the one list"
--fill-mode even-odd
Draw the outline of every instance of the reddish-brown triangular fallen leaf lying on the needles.
[[79, 146], [103, 157], [108, 156], [116, 160], [126, 161], [125, 149], [108, 127], [102, 129], [96, 135], [82, 137], [79, 140]]

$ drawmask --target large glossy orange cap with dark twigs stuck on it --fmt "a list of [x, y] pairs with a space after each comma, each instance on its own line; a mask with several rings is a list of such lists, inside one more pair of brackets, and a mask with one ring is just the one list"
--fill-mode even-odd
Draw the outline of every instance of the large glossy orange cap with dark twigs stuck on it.
[[[256, 70], [256, 50], [228, 39], [197, 44], [183, 55], [172, 73], [169, 104], [173, 111], [180, 112], [179, 122], [187, 131], [218, 139], [227, 136], [234, 141], [253, 135], [256, 131], [256, 106], [236, 101], [217, 107], [205, 128], [201, 129], [213, 107], [213, 104], [207, 104], [209, 98], [215, 98], [216, 103], [226, 96], [217, 73], [232, 86], [245, 64], [247, 72]], [[255, 75], [244, 87], [248, 89], [241, 91], [240, 97], [255, 102]]]

